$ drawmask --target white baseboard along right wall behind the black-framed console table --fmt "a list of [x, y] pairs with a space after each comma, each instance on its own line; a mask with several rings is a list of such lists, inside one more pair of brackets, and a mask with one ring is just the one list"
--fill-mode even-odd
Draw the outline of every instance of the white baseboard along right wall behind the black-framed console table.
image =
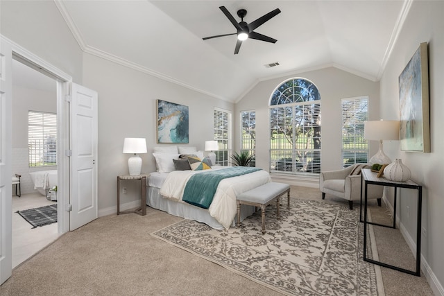
[[[382, 199], [384, 200], [387, 209], [390, 211], [391, 215], [393, 216], [393, 207], [391, 203], [387, 202], [385, 196]], [[411, 252], [413, 253], [413, 257], [415, 257], [416, 259], [416, 240], [413, 240], [413, 238], [411, 237], [409, 232], [407, 232], [407, 229], [404, 227], [398, 216], [396, 217], [396, 225], [398, 229], [400, 229], [402, 236], [404, 237], [405, 241], [407, 242], [407, 245], [409, 246]], [[425, 257], [422, 256], [422, 254], [421, 254], [421, 271], [424, 274], [425, 279], [427, 279], [430, 288], [432, 288], [434, 295], [444, 296], [443, 285], [439, 282], [432, 268], [430, 268], [429, 263], [427, 262], [427, 260], [425, 260]]]

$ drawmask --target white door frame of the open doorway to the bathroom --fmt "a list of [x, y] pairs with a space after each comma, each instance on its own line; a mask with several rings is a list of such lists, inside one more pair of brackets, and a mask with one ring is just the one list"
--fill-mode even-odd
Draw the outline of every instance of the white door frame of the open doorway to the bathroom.
[[[69, 232], [69, 95], [71, 94], [72, 77], [49, 62], [42, 60], [19, 44], [0, 35], [2, 40], [11, 44], [12, 58], [26, 64], [57, 81], [57, 169], [58, 169], [58, 233]], [[13, 95], [13, 94], [12, 94]], [[13, 98], [12, 98], [13, 99]], [[7, 127], [9, 130], [12, 126]], [[11, 209], [12, 210], [12, 209]]]

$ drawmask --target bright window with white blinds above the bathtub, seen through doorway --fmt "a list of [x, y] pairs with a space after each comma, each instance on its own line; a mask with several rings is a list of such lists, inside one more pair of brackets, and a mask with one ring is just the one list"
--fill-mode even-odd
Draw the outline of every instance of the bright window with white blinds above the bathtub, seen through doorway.
[[57, 114], [28, 112], [28, 164], [57, 166]]

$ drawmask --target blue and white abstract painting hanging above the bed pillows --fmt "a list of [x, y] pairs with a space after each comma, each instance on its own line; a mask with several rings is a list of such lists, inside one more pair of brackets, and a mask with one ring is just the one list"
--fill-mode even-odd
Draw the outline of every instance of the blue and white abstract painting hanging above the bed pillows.
[[188, 143], [188, 106], [157, 100], [157, 143]]

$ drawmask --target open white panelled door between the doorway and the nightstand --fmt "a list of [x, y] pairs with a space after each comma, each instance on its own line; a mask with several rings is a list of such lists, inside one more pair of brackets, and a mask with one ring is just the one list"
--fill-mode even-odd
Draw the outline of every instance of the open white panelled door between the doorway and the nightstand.
[[70, 105], [71, 186], [69, 229], [98, 217], [97, 207], [97, 92], [72, 85]]

